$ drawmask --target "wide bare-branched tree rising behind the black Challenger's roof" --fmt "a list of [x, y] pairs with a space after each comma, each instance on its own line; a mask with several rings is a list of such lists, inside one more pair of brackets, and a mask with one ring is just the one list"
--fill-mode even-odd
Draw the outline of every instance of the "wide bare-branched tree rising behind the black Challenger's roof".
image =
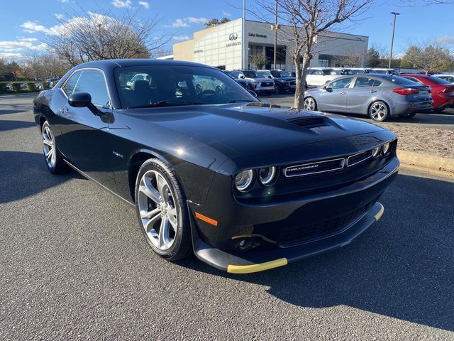
[[50, 48], [71, 65], [101, 59], [150, 58], [170, 38], [155, 35], [157, 19], [143, 20], [137, 11], [72, 12], [45, 38]]

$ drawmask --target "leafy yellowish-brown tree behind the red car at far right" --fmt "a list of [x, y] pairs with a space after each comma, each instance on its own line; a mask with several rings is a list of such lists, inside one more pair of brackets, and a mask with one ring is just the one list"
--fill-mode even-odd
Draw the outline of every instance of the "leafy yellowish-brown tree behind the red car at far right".
[[453, 67], [454, 57], [450, 51], [437, 41], [409, 43], [402, 65], [417, 67], [426, 74], [429, 71], [448, 71]]

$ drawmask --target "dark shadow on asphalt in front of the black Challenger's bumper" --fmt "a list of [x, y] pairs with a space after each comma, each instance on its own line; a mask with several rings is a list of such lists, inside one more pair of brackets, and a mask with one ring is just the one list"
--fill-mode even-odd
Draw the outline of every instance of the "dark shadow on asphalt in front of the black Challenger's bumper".
[[380, 200], [382, 220], [341, 249], [248, 275], [225, 274], [195, 258], [180, 264], [268, 286], [293, 305], [348, 305], [454, 330], [453, 194], [454, 183], [399, 175]]

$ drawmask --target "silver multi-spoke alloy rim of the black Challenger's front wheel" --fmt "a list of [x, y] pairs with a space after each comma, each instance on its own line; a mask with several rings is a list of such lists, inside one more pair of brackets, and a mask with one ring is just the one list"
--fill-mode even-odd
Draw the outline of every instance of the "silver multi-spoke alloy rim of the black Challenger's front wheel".
[[175, 202], [172, 189], [161, 173], [148, 171], [143, 174], [138, 188], [140, 220], [150, 242], [162, 251], [170, 249], [177, 236]]

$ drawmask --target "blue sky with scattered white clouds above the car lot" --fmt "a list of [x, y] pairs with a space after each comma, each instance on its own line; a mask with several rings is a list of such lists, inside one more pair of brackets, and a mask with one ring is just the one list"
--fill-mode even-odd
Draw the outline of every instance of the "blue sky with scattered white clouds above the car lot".
[[[428, 39], [443, 40], [454, 50], [454, 5], [409, 7], [402, 6], [399, 0], [392, 3], [375, 5], [359, 22], [346, 23], [341, 31], [369, 36], [370, 45], [375, 43], [388, 49], [392, 33], [389, 12], [397, 11], [402, 15], [397, 17], [395, 53], [403, 53], [409, 40]], [[122, 11], [124, 7], [131, 7], [139, 9], [140, 16], [158, 16], [157, 34], [165, 33], [172, 37], [170, 43], [175, 43], [204, 28], [207, 18], [239, 18], [241, 4], [242, 0], [3, 0], [0, 5], [0, 55], [13, 57], [29, 49], [45, 50], [40, 42], [43, 35], [59, 23], [58, 17], [79, 7], [93, 12], [99, 8]], [[248, 0], [247, 5], [252, 8], [257, 3]], [[250, 13], [247, 16], [257, 19]]]

